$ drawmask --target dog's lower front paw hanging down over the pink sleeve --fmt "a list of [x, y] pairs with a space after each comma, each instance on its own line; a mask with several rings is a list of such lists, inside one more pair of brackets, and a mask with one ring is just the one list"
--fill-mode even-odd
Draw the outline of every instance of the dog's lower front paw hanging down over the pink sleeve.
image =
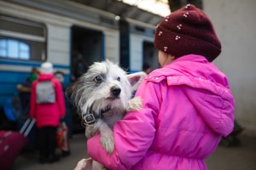
[[111, 154], [113, 152], [113, 149], [114, 149], [113, 143], [114, 143], [114, 141], [113, 141], [113, 132], [112, 131], [108, 131], [108, 132], [101, 134], [101, 144], [102, 144], [103, 148], [109, 154]]

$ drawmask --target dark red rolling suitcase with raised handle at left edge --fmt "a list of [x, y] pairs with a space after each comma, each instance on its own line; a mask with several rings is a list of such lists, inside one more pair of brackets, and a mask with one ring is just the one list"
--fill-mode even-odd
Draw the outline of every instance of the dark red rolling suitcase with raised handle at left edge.
[[0, 169], [8, 170], [20, 155], [20, 151], [24, 148], [35, 119], [27, 119], [21, 127], [20, 132], [0, 131]]

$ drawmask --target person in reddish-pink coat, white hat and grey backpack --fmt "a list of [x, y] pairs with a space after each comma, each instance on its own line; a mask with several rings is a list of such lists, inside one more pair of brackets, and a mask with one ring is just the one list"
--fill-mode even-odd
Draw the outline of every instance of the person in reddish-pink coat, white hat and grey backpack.
[[[53, 88], [50, 101], [43, 101], [40, 95], [47, 94], [50, 88], [45, 90], [45, 82], [49, 82], [49, 87]], [[44, 84], [43, 87], [41, 84]], [[39, 89], [40, 87], [40, 89]], [[47, 86], [48, 87], [48, 86]], [[43, 92], [43, 89], [45, 92]], [[40, 95], [39, 95], [40, 94]], [[42, 98], [42, 99], [41, 99]], [[39, 152], [41, 163], [55, 162], [59, 157], [55, 155], [56, 129], [59, 127], [60, 120], [66, 114], [65, 100], [61, 87], [61, 82], [53, 74], [53, 65], [44, 62], [40, 67], [38, 80], [32, 83], [30, 116], [36, 118], [38, 127]]]

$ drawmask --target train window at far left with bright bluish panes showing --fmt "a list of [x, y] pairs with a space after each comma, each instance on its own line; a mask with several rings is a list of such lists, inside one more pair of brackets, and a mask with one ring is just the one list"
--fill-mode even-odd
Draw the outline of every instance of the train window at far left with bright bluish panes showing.
[[46, 26], [0, 14], [0, 58], [44, 61]]

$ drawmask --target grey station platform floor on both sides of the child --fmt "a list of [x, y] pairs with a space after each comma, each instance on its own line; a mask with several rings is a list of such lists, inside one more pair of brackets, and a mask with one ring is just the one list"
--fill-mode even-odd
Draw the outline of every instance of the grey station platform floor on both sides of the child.
[[[208, 170], [256, 170], [256, 137], [239, 136], [241, 145], [218, 149], [206, 160]], [[21, 154], [11, 170], [73, 170], [77, 162], [87, 156], [83, 133], [70, 139], [71, 155], [53, 164], [40, 164], [38, 153]]]

